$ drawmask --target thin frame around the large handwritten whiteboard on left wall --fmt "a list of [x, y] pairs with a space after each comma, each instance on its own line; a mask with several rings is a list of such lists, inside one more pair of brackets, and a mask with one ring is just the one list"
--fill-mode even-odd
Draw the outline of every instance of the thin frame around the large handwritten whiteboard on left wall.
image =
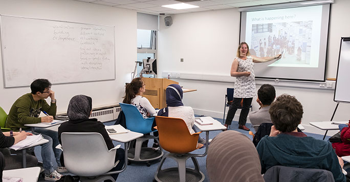
[[[5, 59], [4, 59], [4, 47], [3, 47], [3, 38], [2, 38], [2, 35], [3, 35], [3, 33], [2, 33], [2, 31], [3, 31], [2, 17], [3, 17], [3, 16], [18, 17], [18, 18], [27, 18], [27, 19], [38, 19], [38, 20], [53, 21], [53, 22], [64, 22], [64, 23], [82, 24], [82, 25], [94, 25], [94, 26], [112, 27], [112, 28], [113, 28], [113, 42], [114, 42], [114, 78], [113, 78], [113, 79], [91, 80], [91, 81], [83, 81], [83, 82], [62, 82], [62, 83], [54, 83], [53, 85], [57, 85], [57, 84], [70, 84], [70, 83], [85, 83], [85, 82], [100, 82], [100, 81], [105, 81], [105, 80], [115, 80], [115, 79], [116, 79], [116, 32], [115, 32], [115, 26], [110, 26], [110, 25], [97, 25], [97, 24], [88, 24], [88, 23], [79, 23], [79, 22], [59, 21], [59, 20], [55, 20], [55, 19], [43, 19], [43, 18], [33, 18], [33, 17], [26, 17], [26, 16], [12, 16], [12, 15], [0, 14], [0, 45], [1, 45], [1, 56], [2, 56], [2, 64], [3, 64], [4, 88], [27, 87], [27, 86], [30, 86], [31, 83], [28, 83], [28, 85], [23, 85], [23, 86], [6, 86], [6, 78], [5, 78]], [[34, 80], [33, 80], [33, 81], [34, 81]]]

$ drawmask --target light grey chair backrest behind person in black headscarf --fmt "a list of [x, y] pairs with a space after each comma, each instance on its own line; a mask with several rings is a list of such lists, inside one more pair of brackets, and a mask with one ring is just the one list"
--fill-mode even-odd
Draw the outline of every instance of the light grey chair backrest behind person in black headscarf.
[[79, 176], [97, 176], [114, 168], [116, 149], [108, 151], [100, 133], [61, 134], [64, 165]]

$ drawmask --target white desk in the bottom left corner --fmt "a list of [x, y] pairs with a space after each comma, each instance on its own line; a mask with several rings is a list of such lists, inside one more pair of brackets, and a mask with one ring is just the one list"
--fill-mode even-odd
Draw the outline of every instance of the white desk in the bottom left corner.
[[3, 171], [3, 177], [21, 177], [24, 182], [38, 181], [40, 167], [21, 168]]

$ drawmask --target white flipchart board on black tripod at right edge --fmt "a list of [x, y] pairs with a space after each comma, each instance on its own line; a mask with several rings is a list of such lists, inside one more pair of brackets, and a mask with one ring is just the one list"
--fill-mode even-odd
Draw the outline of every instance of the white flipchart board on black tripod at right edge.
[[342, 37], [334, 101], [350, 103], [350, 37]]

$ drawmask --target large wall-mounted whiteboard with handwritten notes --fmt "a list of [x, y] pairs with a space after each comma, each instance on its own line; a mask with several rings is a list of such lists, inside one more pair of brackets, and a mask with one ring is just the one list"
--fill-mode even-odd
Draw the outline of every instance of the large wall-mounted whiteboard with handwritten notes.
[[0, 16], [5, 87], [115, 79], [114, 27]]

